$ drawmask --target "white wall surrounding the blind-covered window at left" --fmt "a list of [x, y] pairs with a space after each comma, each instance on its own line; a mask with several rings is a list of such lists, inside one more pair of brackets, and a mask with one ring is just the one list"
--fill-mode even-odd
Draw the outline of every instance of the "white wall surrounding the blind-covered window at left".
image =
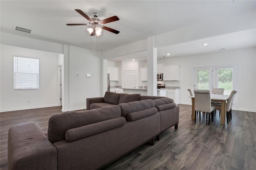
[[[0, 45], [0, 111], [51, 107], [58, 105], [59, 54], [8, 45]], [[13, 55], [39, 58], [39, 89], [13, 89]], [[30, 101], [28, 103], [28, 100]]]

